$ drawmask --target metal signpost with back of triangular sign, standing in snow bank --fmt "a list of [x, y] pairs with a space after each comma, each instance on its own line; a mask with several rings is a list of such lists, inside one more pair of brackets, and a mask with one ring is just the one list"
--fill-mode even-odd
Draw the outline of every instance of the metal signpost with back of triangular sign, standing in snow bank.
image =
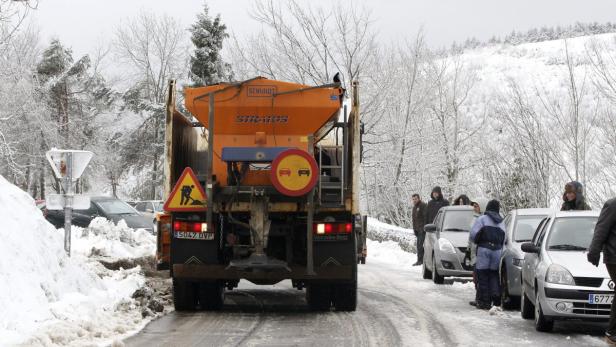
[[61, 180], [64, 194], [50, 194], [47, 202], [48, 210], [64, 209], [64, 250], [71, 256], [71, 220], [73, 209], [90, 208], [90, 198], [75, 195], [73, 182], [79, 179], [92, 159], [92, 152], [79, 150], [55, 149], [46, 153], [56, 178]]

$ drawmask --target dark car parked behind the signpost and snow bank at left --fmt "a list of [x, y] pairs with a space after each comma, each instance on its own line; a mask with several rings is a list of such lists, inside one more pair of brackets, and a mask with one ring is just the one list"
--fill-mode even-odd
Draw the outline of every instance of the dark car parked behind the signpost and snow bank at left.
[[[96, 217], [104, 217], [114, 223], [118, 223], [123, 219], [129, 228], [146, 229], [153, 233], [152, 220], [150, 218], [142, 216], [137, 210], [122, 200], [104, 196], [91, 197], [90, 208], [87, 210], [73, 210], [72, 223], [73, 225], [85, 228]], [[64, 227], [63, 210], [46, 211], [45, 218], [56, 228]]]

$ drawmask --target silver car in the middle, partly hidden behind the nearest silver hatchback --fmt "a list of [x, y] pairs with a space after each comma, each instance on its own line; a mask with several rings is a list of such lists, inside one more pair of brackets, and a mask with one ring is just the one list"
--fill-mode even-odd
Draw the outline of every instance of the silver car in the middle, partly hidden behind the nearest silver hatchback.
[[525, 208], [513, 210], [505, 217], [507, 237], [499, 266], [503, 308], [520, 306], [524, 261], [522, 243], [532, 240], [539, 222], [552, 212], [548, 208]]

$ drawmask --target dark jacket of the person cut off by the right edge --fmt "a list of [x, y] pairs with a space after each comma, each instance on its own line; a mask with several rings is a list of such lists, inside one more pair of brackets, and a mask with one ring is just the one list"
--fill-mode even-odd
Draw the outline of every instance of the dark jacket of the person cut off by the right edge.
[[588, 247], [588, 253], [597, 257], [601, 251], [604, 263], [616, 264], [616, 198], [603, 205], [595, 225], [595, 234]]

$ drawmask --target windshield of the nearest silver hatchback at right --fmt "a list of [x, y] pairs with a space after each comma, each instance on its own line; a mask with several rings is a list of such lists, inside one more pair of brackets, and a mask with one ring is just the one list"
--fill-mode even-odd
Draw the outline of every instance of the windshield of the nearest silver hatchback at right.
[[548, 240], [551, 251], [585, 251], [592, 241], [597, 217], [563, 217], [552, 224]]

